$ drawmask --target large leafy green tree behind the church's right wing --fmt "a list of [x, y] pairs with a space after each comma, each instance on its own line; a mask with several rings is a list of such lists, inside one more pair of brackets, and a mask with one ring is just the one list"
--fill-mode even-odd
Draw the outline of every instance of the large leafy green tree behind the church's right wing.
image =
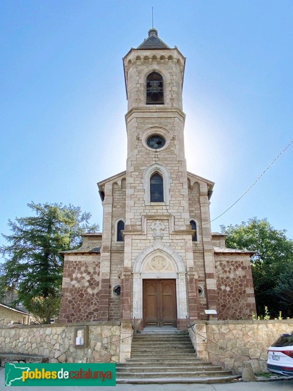
[[277, 316], [279, 298], [274, 287], [280, 274], [293, 262], [293, 240], [286, 237], [286, 230], [274, 229], [266, 218], [221, 225], [221, 231], [227, 235], [227, 247], [255, 251], [251, 269], [257, 312], [264, 315], [267, 305], [270, 313]]

